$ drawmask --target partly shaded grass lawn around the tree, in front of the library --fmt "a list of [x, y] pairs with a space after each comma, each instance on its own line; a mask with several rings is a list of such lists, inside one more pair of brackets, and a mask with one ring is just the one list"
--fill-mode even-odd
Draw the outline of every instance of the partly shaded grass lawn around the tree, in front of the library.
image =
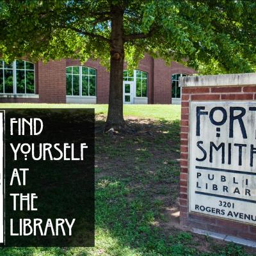
[[[0, 104], [1, 108], [95, 107], [97, 125], [106, 105]], [[222, 244], [173, 228], [179, 211], [180, 106], [124, 106], [136, 134], [95, 138], [95, 247], [4, 248], [6, 256], [245, 256]]]

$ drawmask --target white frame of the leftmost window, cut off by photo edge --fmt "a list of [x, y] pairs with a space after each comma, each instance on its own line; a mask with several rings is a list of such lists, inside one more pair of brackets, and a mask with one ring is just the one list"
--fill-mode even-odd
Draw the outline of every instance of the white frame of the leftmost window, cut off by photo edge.
[[[30, 61], [26, 61], [26, 60], [21, 60], [21, 61], [25, 61], [24, 63], [24, 69], [20, 69], [16, 67], [16, 60], [12, 62], [12, 68], [4, 68], [4, 61], [0, 60], [3, 63], [3, 92], [0, 92], [0, 95], [34, 95], [35, 91], [36, 91], [36, 80], [35, 80], [35, 63], [30, 62]], [[33, 64], [34, 69], [26, 69], [26, 62], [29, 62], [31, 64]], [[12, 69], [13, 72], [13, 93], [5, 93], [4, 92], [4, 69]], [[18, 70], [24, 70], [25, 72], [25, 93], [17, 93], [17, 69]], [[26, 70], [28, 71], [33, 71], [34, 72], [34, 92], [33, 93], [26, 93]]]

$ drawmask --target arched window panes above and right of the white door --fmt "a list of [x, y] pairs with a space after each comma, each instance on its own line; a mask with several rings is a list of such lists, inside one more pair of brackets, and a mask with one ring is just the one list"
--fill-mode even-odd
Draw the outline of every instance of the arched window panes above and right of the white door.
[[124, 70], [123, 80], [136, 81], [136, 97], [147, 97], [147, 72], [141, 70]]

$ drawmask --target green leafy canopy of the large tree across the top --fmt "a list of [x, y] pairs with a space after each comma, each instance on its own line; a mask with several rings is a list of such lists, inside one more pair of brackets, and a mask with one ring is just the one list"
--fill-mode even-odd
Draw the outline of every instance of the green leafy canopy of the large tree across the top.
[[203, 73], [255, 71], [256, 2], [241, 0], [5, 0], [0, 54], [6, 61], [99, 58], [109, 67], [111, 6], [123, 10], [131, 67], [148, 52]]

